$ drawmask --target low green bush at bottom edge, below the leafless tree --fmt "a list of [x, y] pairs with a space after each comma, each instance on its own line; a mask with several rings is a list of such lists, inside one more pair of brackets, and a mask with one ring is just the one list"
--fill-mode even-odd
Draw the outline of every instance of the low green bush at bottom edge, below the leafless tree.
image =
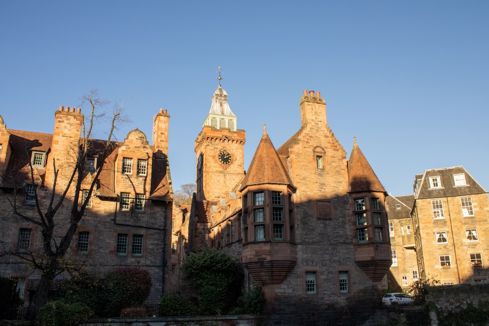
[[41, 326], [67, 326], [84, 322], [92, 315], [92, 311], [85, 304], [70, 304], [51, 301], [39, 311], [38, 319]]

